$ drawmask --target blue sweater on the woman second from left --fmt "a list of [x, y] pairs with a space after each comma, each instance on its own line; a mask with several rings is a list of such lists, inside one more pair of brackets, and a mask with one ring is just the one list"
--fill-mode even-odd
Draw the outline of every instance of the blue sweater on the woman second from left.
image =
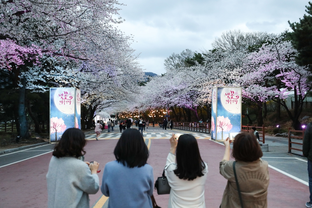
[[108, 208], [152, 208], [153, 168], [149, 164], [129, 168], [117, 161], [106, 163], [101, 191], [109, 196]]

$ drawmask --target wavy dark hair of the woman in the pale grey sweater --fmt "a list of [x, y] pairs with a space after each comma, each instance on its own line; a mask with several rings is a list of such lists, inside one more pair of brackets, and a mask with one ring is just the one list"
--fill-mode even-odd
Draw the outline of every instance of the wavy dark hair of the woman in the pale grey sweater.
[[86, 144], [85, 134], [76, 128], [67, 129], [59, 143], [54, 147], [53, 156], [59, 157], [79, 157], [85, 154], [83, 150]]

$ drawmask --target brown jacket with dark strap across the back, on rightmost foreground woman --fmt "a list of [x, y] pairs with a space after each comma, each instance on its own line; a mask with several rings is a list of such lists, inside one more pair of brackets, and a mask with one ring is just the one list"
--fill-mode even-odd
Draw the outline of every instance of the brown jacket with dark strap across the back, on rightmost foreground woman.
[[[235, 169], [244, 208], [267, 208], [270, 180], [268, 162], [262, 159], [254, 162], [236, 161]], [[222, 160], [220, 162], [220, 174], [228, 180], [223, 193], [221, 208], [241, 208], [233, 171], [233, 161]]]

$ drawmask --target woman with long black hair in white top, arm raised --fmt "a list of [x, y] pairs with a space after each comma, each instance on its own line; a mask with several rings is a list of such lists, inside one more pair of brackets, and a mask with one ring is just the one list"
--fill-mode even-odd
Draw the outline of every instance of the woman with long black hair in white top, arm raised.
[[165, 166], [171, 187], [168, 208], [204, 208], [208, 166], [202, 161], [195, 137], [183, 134], [177, 141], [173, 134], [170, 144]]

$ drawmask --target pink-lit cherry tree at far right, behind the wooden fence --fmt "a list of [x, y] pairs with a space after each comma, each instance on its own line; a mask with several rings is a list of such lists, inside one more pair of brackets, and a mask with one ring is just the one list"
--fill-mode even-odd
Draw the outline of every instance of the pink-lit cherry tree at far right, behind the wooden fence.
[[[312, 89], [307, 77], [310, 72], [305, 67], [297, 65], [295, 54], [297, 51], [290, 41], [285, 41], [283, 35], [271, 37], [258, 51], [248, 56], [242, 70], [241, 86], [243, 96], [255, 101], [261, 111], [262, 104], [271, 99], [282, 105], [295, 129], [301, 129], [299, 116], [302, 111], [306, 93]], [[285, 98], [288, 91], [294, 91], [295, 106], [292, 112], [286, 105]]]

